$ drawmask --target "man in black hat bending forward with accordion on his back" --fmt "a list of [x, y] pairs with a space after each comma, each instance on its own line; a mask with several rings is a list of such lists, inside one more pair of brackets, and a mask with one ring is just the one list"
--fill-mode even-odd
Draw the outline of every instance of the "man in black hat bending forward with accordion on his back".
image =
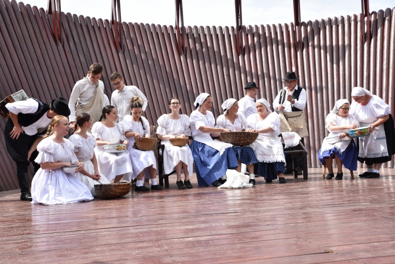
[[34, 172], [40, 164], [34, 162], [39, 154], [37, 145], [45, 135], [48, 125], [55, 115], [70, 115], [68, 101], [62, 97], [52, 100], [51, 105], [29, 98], [6, 104], [9, 116], [4, 127], [4, 140], [8, 153], [16, 163], [16, 173], [21, 188], [21, 201], [31, 201], [28, 167], [30, 162]]

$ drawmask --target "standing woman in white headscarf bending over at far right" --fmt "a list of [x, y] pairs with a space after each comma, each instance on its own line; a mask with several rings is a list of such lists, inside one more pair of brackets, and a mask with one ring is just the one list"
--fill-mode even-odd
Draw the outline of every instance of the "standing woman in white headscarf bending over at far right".
[[372, 128], [370, 135], [358, 138], [357, 159], [367, 166], [367, 171], [359, 177], [379, 178], [381, 165], [390, 161], [395, 151], [394, 119], [390, 107], [362, 87], [354, 87], [351, 96], [354, 102], [350, 114], [355, 115], [361, 127]]

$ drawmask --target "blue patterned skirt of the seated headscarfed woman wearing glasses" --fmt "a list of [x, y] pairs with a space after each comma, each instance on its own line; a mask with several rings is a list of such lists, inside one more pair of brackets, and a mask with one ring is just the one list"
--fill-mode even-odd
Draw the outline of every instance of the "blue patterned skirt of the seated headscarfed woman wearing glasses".
[[356, 148], [354, 140], [351, 140], [349, 146], [347, 146], [347, 148], [342, 153], [339, 153], [339, 150], [336, 147], [333, 147], [332, 150], [323, 151], [322, 155], [320, 153], [321, 149], [319, 149], [318, 151], [318, 159], [322, 165], [325, 164], [325, 159], [329, 159], [329, 156], [332, 156], [332, 158], [334, 159], [336, 154], [340, 158], [346, 169], [349, 169], [351, 171], [356, 170], [358, 149]]

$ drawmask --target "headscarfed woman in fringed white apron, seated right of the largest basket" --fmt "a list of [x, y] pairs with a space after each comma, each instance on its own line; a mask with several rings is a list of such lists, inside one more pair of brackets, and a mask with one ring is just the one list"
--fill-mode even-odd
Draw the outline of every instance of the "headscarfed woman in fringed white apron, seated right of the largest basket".
[[277, 179], [280, 184], [286, 183], [284, 178], [285, 155], [278, 135], [280, 134], [280, 117], [273, 113], [266, 99], [255, 103], [258, 113], [247, 118], [247, 132], [259, 133], [258, 138], [251, 144], [258, 159], [254, 164], [254, 172], [265, 178], [266, 182]]

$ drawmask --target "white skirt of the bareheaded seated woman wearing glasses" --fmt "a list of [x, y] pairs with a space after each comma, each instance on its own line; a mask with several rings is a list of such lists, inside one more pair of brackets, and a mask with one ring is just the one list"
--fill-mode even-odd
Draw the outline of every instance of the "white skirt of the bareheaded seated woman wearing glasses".
[[192, 156], [191, 148], [188, 145], [185, 145], [184, 147], [175, 147], [171, 145], [168, 139], [163, 140], [162, 144], [164, 144], [164, 174], [171, 173], [174, 170], [174, 167], [182, 161], [188, 166], [188, 173], [192, 177], [194, 171], [194, 157]]

